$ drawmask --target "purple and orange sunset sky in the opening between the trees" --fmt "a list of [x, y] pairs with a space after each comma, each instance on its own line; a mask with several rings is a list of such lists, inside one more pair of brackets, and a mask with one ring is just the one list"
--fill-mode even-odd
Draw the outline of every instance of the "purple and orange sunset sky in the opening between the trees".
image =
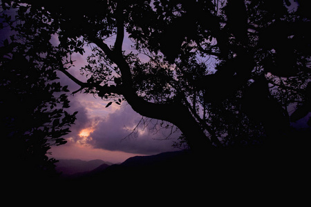
[[[129, 39], [124, 40], [123, 49], [132, 50]], [[86, 81], [86, 77], [80, 75], [79, 68], [87, 64], [86, 57], [91, 53], [91, 48], [85, 48], [85, 50], [86, 53], [83, 56], [79, 54], [72, 56], [75, 60], [75, 67], [69, 69], [70, 73], [81, 81]], [[70, 92], [79, 89], [79, 86], [62, 72], [58, 72], [58, 75], [62, 85], [68, 85]], [[140, 126], [136, 136], [128, 136], [142, 116], [133, 111], [126, 101], [123, 101], [120, 106], [113, 103], [105, 108], [109, 101], [83, 92], [77, 92], [73, 96], [70, 92], [68, 93], [70, 100], [68, 112], [79, 111], [77, 120], [70, 128], [72, 132], [66, 136], [67, 144], [54, 146], [50, 150], [51, 157], [121, 162], [135, 155], [154, 155], [176, 150], [172, 144], [180, 133], [176, 132], [169, 139], [165, 139], [171, 130], [158, 131], [160, 128], [156, 125], [157, 120], [147, 119], [149, 121], [147, 128], [142, 130]]]

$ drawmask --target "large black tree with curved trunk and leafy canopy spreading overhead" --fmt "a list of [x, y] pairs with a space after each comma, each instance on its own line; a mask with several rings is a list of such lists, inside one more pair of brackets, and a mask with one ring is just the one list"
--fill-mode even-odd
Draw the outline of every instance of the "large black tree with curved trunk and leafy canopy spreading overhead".
[[[41, 24], [43, 37], [58, 37], [53, 51], [68, 55], [50, 64], [79, 90], [117, 104], [124, 97], [140, 115], [177, 126], [202, 152], [292, 143], [290, 111], [303, 110], [294, 120], [310, 111], [306, 2], [25, 0], [2, 7], [27, 14], [29, 28]], [[125, 31], [135, 52], [122, 48]], [[86, 82], [66, 70], [84, 46], [93, 48], [82, 68], [91, 73]]]

